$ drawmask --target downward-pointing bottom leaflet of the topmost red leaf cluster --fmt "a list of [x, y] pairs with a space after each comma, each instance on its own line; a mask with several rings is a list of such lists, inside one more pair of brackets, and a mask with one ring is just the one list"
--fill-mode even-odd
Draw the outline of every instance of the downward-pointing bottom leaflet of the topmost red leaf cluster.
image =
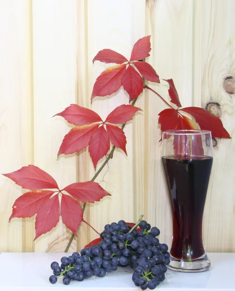
[[136, 99], [143, 92], [143, 80], [131, 65], [129, 65], [123, 76], [122, 85], [130, 96], [130, 101]]

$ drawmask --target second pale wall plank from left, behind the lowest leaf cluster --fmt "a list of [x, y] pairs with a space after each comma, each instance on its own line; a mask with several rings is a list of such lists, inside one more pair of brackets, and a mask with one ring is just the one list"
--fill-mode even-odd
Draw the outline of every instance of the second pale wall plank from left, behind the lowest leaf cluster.
[[[75, 155], [57, 153], [69, 126], [51, 118], [76, 102], [76, 0], [33, 1], [34, 163], [55, 178], [60, 189], [76, 181]], [[69, 231], [60, 220], [35, 242], [35, 251], [64, 251]], [[76, 249], [73, 242], [72, 249]]]

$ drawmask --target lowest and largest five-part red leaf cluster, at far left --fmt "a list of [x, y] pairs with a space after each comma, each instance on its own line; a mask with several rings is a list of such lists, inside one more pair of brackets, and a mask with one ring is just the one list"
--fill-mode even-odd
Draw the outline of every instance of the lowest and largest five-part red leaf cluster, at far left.
[[[77, 235], [77, 228], [83, 220], [82, 207], [78, 201], [94, 203], [110, 195], [98, 183], [91, 181], [73, 183], [59, 190], [55, 179], [34, 165], [3, 175], [30, 190], [15, 200], [9, 222], [14, 217], [26, 218], [36, 214], [34, 240], [55, 227], [60, 215], [65, 226]], [[62, 194], [60, 204], [59, 193]]]

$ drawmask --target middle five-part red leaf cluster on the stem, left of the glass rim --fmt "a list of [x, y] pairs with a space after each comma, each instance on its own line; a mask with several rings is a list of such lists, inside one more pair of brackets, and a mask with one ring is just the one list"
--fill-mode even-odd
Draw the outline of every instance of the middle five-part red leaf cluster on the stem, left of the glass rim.
[[120, 105], [108, 114], [105, 121], [94, 111], [71, 104], [64, 111], [56, 114], [76, 125], [67, 133], [59, 148], [60, 154], [79, 152], [88, 146], [91, 160], [96, 165], [110, 148], [110, 142], [126, 152], [126, 136], [117, 125], [125, 124], [134, 114], [141, 110], [132, 105]]

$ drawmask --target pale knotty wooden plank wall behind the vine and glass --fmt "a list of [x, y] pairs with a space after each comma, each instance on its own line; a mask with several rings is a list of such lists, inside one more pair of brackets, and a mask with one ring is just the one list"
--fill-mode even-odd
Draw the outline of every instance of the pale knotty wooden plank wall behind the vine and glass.
[[[204, 215], [210, 252], [235, 252], [235, 109], [225, 78], [235, 78], [234, 0], [0, 0], [0, 173], [35, 164], [64, 187], [94, 175], [87, 150], [57, 152], [70, 126], [59, 116], [71, 103], [105, 117], [128, 104], [123, 90], [90, 104], [92, 86], [108, 65], [92, 59], [104, 48], [127, 58], [133, 44], [151, 34], [148, 62], [162, 79], [173, 78], [183, 106], [218, 102], [232, 136], [218, 140]], [[151, 86], [167, 97], [167, 84]], [[112, 196], [89, 205], [86, 220], [98, 231], [107, 223], [136, 221], [140, 214], [161, 229], [169, 243], [172, 224], [160, 160], [158, 113], [162, 101], [149, 92], [143, 109], [125, 127], [128, 158], [116, 150], [97, 182]], [[0, 251], [64, 251], [70, 231], [61, 221], [35, 242], [34, 218], [13, 219], [12, 205], [23, 191], [0, 176]], [[96, 238], [82, 225], [71, 251]]]

